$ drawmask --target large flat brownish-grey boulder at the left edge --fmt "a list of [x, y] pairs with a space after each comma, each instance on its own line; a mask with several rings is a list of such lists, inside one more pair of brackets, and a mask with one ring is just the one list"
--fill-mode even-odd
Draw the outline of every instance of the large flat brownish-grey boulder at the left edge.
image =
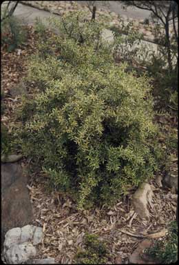
[[18, 163], [1, 164], [1, 246], [9, 229], [25, 226], [33, 220], [27, 182]]

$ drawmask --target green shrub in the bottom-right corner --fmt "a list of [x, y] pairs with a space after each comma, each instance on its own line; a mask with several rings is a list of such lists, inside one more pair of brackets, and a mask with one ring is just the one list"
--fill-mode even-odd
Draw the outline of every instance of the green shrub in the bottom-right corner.
[[158, 263], [174, 264], [178, 261], [178, 225], [176, 222], [169, 224], [169, 233], [165, 239], [158, 240], [153, 247], [146, 251], [155, 257]]

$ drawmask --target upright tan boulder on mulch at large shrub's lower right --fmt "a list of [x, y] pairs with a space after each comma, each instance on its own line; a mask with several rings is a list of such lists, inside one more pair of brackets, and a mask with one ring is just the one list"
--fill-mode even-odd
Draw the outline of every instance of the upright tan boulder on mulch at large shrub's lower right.
[[147, 209], [147, 205], [151, 206], [151, 199], [153, 196], [153, 192], [151, 190], [151, 186], [144, 182], [139, 186], [132, 197], [132, 204], [134, 205], [134, 209], [140, 218], [149, 219], [149, 210]]

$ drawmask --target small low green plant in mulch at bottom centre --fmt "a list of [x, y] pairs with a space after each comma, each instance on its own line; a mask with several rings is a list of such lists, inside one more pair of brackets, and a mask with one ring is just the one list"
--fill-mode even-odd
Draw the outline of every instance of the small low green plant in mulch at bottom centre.
[[106, 264], [107, 247], [97, 235], [85, 235], [85, 251], [76, 254], [76, 264]]

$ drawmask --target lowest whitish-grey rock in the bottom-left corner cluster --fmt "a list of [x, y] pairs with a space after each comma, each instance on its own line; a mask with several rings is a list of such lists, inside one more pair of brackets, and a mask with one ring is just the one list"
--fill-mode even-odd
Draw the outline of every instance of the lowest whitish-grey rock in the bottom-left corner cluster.
[[23, 264], [36, 256], [36, 248], [30, 242], [15, 244], [6, 251], [4, 256], [8, 264]]

